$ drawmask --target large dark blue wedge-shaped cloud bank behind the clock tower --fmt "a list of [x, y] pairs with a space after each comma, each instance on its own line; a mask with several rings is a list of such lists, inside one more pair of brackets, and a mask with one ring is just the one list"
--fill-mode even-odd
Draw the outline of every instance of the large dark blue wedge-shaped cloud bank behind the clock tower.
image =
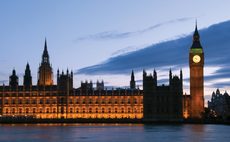
[[[230, 21], [215, 24], [200, 30], [201, 44], [205, 52], [205, 67], [220, 67], [215, 73], [205, 76], [206, 81], [230, 78]], [[217, 36], [218, 35], [218, 36]], [[161, 42], [146, 48], [111, 57], [103, 63], [79, 69], [77, 74], [130, 74], [134, 69], [180, 69], [188, 66], [188, 53], [192, 35]], [[215, 85], [221, 85], [221, 82]], [[223, 84], [222, 84], [223, 85]], [[224, 83], [224, 85], [228, 85]]]

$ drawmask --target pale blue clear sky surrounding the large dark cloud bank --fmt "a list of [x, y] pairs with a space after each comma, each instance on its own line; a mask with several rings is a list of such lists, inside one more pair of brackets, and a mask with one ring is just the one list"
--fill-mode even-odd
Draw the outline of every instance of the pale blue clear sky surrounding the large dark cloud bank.
[[[127, 70], [115, 75], [78, 72], [108, 62], [111, 57], [184, 38], [193, 32], [195, 19], [199, 29], [227, 21], [229, 5], [228, 0], [2, 0], [0, 80], [8, 83], [13, 68], [22, 76], [29, 62], [36, 83], [46, 37], [54, 72], [57, 68], [74, 70], [75, 87], [85, 79], [104, 79], [107, 85], [126, 86]], [[201, 40], [205, 39], [203, 36]], [[162, 59], [167, 56], [162, 54]], [[175, 61], [175, 65], [178, 63]], [[186, 76], [186, 65], [181, 68]], [[215, 64], [207, 69], [206, 74], [212, 74], [221, 67]], [[168, 76], [167, 68], [159, 66], [157, 70], [162, 80]], [[178, 74], [177, 68], [175, 73]], [[141, 73], [136, 78], [141, 80]], [[206, 94], [221, 87], [213, 86], [215, 82], [207, 82]], [[228, 89], [226, 81], [219, 82]]]

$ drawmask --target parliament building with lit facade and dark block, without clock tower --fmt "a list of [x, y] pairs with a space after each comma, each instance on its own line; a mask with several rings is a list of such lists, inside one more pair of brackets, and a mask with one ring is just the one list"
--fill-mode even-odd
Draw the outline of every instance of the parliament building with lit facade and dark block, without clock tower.
[[[170, 71], [171, 72], [171, 71]], [[155, 74], [156, 77], [156, 74]], [[153, 84], [151, 82], [153, 81]], [[104, 82], [82, 82], [73, 88], [73, 72], [57, 71], [57, 84], [53, 82], [53, 70], [45, 41], [37, 85], [32, 84], [30, 66], [27, 63], [23, 85], [15, 69], [9, 77], [9, 85], [0, 86], [0, 115], [2, 117], [33, 118], [130, 118], [177, 119], [181, 116], [182, 79], [170, 77], [170, 86], [156, 86], [156, 79], [144, 75], [143, 90], [136, 89], [132, 71], [129, 89], [104, 88]], [[155, 83], [155, 84], [154, 84]], [[150, 85], [154, 90], [148, 89]], [[149, 93], [155, 93], [153, 98]], [[147, 94], [146, 94], [147, 93]], [[145, 106], [143, 113], [143, 104]], [[149, 104], [153, 104], [149, 106]], [[170, 105], [169, 105], [170, 104]], [[149, 108], [148, 108], [149, 107]], [[175, 109], [174, 109], [175, 108]]]

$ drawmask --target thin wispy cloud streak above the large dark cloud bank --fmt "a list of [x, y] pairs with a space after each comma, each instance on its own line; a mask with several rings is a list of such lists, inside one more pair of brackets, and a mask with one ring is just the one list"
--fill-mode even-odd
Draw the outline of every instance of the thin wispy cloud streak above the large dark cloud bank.
[[136, 36], [140, 34], [144, 34], [146, 32], [155, 30], [159, 27], [169, 25], [172, 23], [177, 23], [177, 22], [186, 22], [189, 20], [193, 20], [194, 17], [184, 17], [184, 18], [178, 18], [175, 20], [169, 20], [166, 22], [158, 23], [156, 25], [150, 26], [148, 28], [138, 30], [138, 31], [130, 31], [130, 32], [117, 32], [117, 31], [105, 31], [97, 34], [91, 34], [83, 37], [77, 38], [75, 41], [84, 41], [84, 40], [110, 40], [110, 39], [123, 39], [123, 38], [128, 38], [131, 36]]

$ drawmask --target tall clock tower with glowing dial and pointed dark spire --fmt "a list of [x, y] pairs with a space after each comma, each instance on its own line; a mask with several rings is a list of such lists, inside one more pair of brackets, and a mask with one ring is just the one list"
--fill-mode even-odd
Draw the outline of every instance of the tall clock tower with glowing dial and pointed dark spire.
[[200, 36], [197, 30], [193, 34], [193, 43], [189, 52], [190, 68], [190, 117], [201, 119], [204, 112], [204, 51], [200, 44]]

